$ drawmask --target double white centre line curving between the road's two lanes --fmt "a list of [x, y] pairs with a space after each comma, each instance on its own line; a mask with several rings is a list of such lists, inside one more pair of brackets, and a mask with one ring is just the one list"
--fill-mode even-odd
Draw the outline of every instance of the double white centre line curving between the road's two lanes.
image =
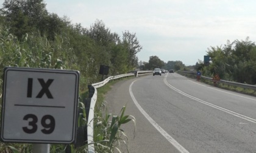
[[[166, 76], [166, 77], [167, 77], [167, 76]], [[184, 95], [184, 96], [186, 96], [186, 97], [188, 97], [188, 98], [191, 98], [192, 100], [196, 100], [196, 101], [198, 101], [199, 103], [205, 104], [205, 105], [207, 105], [207, 106], [210, 106], [210, 107], [213, 107], [213, 108], [215, 108], [215, 109], [218, 109], [218, 110], [221, 110], [221, 111], [223, 111], [223, 112], [226, 112], [226, 113], [228, 113], [228, 114], [231, 114], [231, 115], [233, 115], [233, 116], [235, 116], [235, 117], [239, 117], [239, 118], [242, 118], [242, 119], [244, 119], [244, 120], [250, 121], [250, 122], [252, 122], [252, 123], [256, 123], [256, 120], [255, 120], [254, 118], [247, 117], [247, 116], [245, 116], [245, 115], [242, 115], [242, 114], [233, 112], [232, 110], [225, 109], [225, 108], [223, 108], [223, 107], [217, 106], [217, 105], [212, 104], [212, 103], [208, 103], [207, 101], [201, 100], [201, 99], [199, 99], [199, 98], [196, 98], [196, 97], [193, 97], [193, 96], [191, 96], [191, 95], [189, 95], [189, 94], [186, 94], [185, 92], [182, 92], [181, 90], [177, 89], [176, 87], [171, 86], [171, 84], [169, 84], [169, 83], [167, 82], [166, 77], [163, 79], [163, 81], [165, 82], [165, 84], [166, 84], [169, 88], [171, 88], [172, 90], [178, 92], [179, 94], [182, 94], [182, 95]]]

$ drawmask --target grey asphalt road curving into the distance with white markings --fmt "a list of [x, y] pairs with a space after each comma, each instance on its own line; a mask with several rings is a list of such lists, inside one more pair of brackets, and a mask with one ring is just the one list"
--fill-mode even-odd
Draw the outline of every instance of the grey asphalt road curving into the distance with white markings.
[[136, 118], [134, 138], [123, 126], [130, 152], [256, 152], [255, 97], [166, 73], [119, 81], [105, 101]]

